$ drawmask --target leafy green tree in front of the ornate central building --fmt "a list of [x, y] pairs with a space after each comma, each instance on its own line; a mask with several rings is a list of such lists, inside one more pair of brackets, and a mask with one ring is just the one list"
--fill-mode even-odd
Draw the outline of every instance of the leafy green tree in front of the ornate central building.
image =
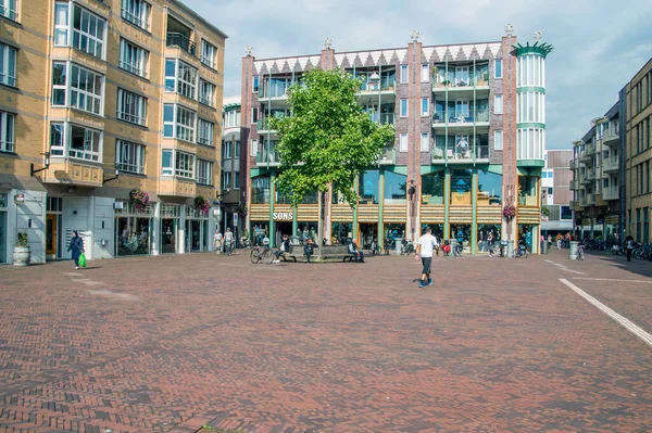
[[377, 164], [383, 148], [394, 142], [393, 126], [374, 123], [358, 102], [361, 85], [362, 79], [339, 69], [312, 69], [288, 91], [292, 115], [269, 119], [279, 137], [276, 186], [283, 193], [291, 191], [294, 205], [319, 192], [319, 230], [328, 186], [353, 207], [358, 201], [353, 180]]

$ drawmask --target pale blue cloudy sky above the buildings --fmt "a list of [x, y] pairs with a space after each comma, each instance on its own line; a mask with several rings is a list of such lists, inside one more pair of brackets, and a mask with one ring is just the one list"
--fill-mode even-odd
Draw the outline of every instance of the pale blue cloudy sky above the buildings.
[[184, 0], [228, 35], [224, 95], [240, 94], [244, 47], [258, 59], [405, 48], [413, 30], [424, 46], [500, 40], [514, 26], [519, 42], [535, 30], [554, 47], [547, 59], [547, 148], [572, 149], [590, 120], [652, 56], [650, 0]]

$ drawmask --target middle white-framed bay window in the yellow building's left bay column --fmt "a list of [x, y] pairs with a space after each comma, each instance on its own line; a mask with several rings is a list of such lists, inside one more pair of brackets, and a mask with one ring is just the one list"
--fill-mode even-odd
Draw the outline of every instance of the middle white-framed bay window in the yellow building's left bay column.
[[103, 114], [103, 75], [70, 62], [54, 62], [52, 69], [52, 105]]

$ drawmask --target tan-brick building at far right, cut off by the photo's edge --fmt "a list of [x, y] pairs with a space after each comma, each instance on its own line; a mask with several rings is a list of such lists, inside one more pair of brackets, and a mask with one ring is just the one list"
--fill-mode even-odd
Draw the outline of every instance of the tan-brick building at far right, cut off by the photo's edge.
[[650, 160], [652, 160], [652, 59], [631, 78], [620, 92], [626, 136], [625, 214], [627, 234], [637, 242], [650, 242]]

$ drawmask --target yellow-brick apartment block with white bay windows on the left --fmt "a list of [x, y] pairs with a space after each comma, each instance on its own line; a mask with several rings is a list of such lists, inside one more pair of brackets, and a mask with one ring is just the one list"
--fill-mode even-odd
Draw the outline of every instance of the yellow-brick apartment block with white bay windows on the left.
[[32, 262], [70, 257], [73, 230], [88, 258], [210, 249], [226, 35], [178, 0], [0, 15], [0, 262], [20, 231]]

